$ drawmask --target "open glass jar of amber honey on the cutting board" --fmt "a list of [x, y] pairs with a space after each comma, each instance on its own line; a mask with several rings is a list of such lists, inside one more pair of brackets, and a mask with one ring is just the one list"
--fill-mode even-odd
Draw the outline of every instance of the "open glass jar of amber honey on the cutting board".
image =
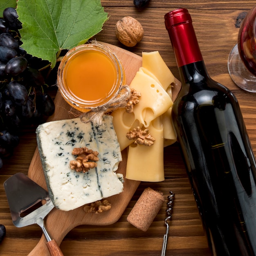
[[80, 112], [106, 105], [124, 85], [124, 70], [117, 56], [100, 44], [84, 44], [63, 57], [57, 76], [63, 98]]

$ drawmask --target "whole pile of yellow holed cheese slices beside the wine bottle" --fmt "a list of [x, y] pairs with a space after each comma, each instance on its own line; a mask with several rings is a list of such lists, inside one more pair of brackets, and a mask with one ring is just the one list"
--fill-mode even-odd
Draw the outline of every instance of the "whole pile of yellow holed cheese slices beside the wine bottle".
[[[130, 86], [141, 92], [133, 113], [114, 111], [113, 124], [121, 150], [128, 147], [126, 178], [147, 182], [164, 180], [164, 146], [173, 144], [177, 135], [171, 120], [172, 84], [175, 78], [159, 52], [142, 53], [142, 67]], [[133, 143], [126, 133], [139, 126], [148, 128], [155, 138], [152, 146]]]

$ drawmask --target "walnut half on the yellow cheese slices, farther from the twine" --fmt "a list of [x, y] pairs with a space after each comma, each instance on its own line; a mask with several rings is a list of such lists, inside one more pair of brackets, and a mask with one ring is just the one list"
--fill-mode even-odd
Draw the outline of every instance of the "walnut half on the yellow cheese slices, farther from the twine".
[[142, 130], [139, 126], [127, 132], [126, 137], [130, 140], [135, 139], [135, 144], [145, 146], [151, 146], [155, 141], [155, 138], [150, 133], [148, 133], [148, 129]]

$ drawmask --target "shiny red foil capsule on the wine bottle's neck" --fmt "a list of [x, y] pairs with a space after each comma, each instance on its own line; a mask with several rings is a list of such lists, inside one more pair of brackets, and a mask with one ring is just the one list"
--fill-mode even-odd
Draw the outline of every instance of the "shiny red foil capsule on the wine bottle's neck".
[[[177, 66], [181, 67], [196, 61], [202, 61], [202, 54], [198, 46], [189, 11], [185, 8], [176, 9], [164, 16], [165, 27], [169, 33]], [[172, 38], [178, 37], [178, 40]]]

